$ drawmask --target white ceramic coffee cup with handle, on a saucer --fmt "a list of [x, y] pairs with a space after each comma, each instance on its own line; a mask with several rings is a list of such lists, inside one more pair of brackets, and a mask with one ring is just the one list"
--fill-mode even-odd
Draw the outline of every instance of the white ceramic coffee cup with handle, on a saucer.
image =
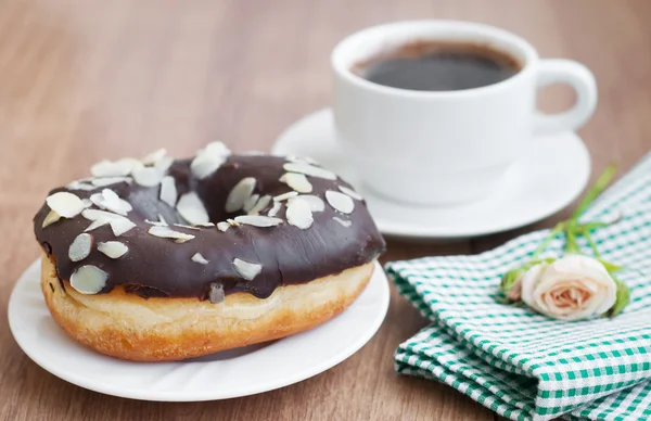
[[[412, 41], [486, 44], [522, 69], [494, 85], [417, 91], [363, 79], [352, 68]], [[431, 205], [490, 194], [536, 135], [575, 130], [592, 115], [590, 71], [569, 60], [540, 60], [521, 37], [487, 25], [414, 21], [350, 35], [332, 52], [334, 118], [344, 151], [365, 184], [394, 201]], [[536, 110], [540, 87], [567, 84], [576, 103], [558, 114]]]

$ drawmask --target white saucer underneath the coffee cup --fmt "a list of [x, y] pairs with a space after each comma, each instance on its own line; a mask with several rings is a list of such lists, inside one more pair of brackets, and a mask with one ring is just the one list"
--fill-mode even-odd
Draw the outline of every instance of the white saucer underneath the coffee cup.
[[510, 230], [567, 206], [585, 188], [590, 156], [574, 132], [539, 137], [510, 169], [503, 184], [483, 201], [419, 207], [387, 201], [360, 182], [336, 143], [330, 109], [294, 123], [276, 141], [278, 155], [310, 156], [363, 194], [382, 233], [410, 238], [468, 238]]

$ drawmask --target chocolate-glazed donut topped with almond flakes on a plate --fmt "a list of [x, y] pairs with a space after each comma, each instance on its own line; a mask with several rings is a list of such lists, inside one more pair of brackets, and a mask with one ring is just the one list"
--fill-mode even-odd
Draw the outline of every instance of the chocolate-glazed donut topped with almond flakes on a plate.
[[362, 197], [308, 158], [103, 161], [36, 214], [41, 288], [68, 335], [162, 361], [286, 336], [343, 311], [385, 244]]

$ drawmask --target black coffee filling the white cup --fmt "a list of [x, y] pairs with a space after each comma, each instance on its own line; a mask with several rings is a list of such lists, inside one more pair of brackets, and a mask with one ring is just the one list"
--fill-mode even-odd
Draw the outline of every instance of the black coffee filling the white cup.
[[353, 72], [393, 88], [457, 91], [497, 84], [521, 67], [513, 56], [486, 46], [418, 41], [358, 63]]

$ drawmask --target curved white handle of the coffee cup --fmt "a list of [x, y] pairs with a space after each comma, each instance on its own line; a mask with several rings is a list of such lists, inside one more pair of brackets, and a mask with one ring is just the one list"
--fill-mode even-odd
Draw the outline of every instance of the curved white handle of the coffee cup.
[[592, 73], [572, 60], [541, 60], [538, 65], [538, 88], [566, 84], [576, 91], [576, 103], [556, 114], [536, 113], [534, 133], [552, 135], [582, 127], [597, 107], [597, 82]]

